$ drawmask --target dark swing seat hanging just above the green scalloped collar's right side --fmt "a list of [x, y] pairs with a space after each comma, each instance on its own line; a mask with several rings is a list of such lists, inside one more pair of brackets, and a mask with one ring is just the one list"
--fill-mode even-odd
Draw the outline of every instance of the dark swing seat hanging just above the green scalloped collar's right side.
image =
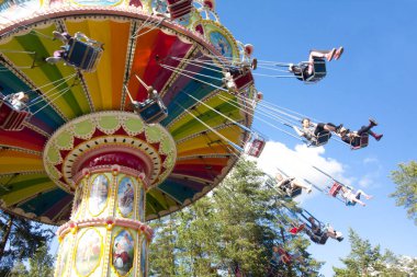
[[145, 102], [139, 103], [136, 109], [147, 124], [159, 123], [168, 116], [168, 109], [159, 97], [148, 99]]

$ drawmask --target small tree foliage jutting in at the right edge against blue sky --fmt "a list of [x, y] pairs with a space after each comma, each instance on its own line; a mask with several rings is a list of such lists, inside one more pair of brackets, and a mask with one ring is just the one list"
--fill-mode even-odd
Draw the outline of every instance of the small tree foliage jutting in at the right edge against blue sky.
[[417, 162], [401, 163], [398, 170], [391, 173], [391, 178], [397, 185], [390, 196], [396, 199], [397, 206], [407, 209], [408, 218], [417, 224]]

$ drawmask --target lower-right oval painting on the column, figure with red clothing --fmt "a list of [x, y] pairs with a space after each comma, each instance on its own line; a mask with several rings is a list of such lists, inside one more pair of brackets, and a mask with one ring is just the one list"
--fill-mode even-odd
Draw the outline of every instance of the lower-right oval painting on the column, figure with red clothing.
[[129, 232], [123, 230], [114, 238], [113, 243], [113, 267], [122, 276], [126, 275], [134, 259], [135, 242]]

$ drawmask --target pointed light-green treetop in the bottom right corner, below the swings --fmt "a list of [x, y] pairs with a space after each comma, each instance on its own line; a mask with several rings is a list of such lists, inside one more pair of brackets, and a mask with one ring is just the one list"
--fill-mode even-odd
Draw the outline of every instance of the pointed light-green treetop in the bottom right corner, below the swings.
[[372, 246], [369, 240], [361, 239], [352, 229], [349, 230], [349, 241], [351, 252], [341, 258], [346, 268], [334, 267], [336, 277], [405, 277], [417, 272], [416, 258], [398, 257], [388, 250], [382, 254], [380, 245]]

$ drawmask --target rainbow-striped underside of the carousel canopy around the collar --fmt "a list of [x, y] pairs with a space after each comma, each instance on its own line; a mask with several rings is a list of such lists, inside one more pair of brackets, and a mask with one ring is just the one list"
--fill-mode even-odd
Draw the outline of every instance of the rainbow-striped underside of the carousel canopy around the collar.
[[[243, 125], [251, 124], [250, 116], [241, 113], [233, 102], [224, 101], [225, 97], [237, 101], [234, 95], [158, 64], [193, 72], [191, 76], [222, 86], [222, 72], [181, 61], [204, 58], [218, 62], [213, 58], [213, 54], [218, 53], [200, 37], [170, 23], [139, 30], [145, 20], [145, 16], [129, 13], [106, 11], [94, 15], [72, 11], [70, 15], [38, 16], [25, 28], [20, 23], [12, 33], [3, 31], [0, 38], [2, 93], [32, 91], [32, 99], [41, 96], [31, 107], [38, 112], [23, 130], [0, 130], [3, 209], [50, 224], [68, 220], [74, 195], [56, 186], [46, 175], [42, 160], [44, 146], [57, 128], [81, 115], [132, 111], [124, 84], [135, 100], [143, 101], [147, 96], [134, 74], [162, 95], [169, 116], [161, 125], [171, 134], [178, 151], [171, 174], [147, 194], [148, 220], [178, 210], [205, 195], [232, 169], [236, 153], [212, 129], [238, 146], [243, 146], [247, 134], [188, 94]], [[76, 79], [72, 67], [45, 62], [45, 58], [61, 45], [52, 38], [53, 31], [81, 32], [103, 43], [104, 51], [97, 71]], [[132, 38], [134, 34], [137, 37]], [[55, 83], [50, 85], [52, 82]], [[67, 92], [60, 95], [61, 91]]]

